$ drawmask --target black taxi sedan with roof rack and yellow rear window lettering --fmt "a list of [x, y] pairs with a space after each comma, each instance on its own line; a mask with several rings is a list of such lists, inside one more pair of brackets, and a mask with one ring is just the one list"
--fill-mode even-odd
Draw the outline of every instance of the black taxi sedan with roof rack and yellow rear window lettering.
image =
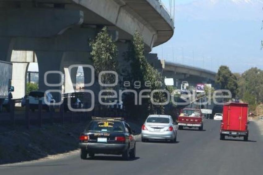
[[81, 159], [95, 154], [122, 155], [124, 160], [135, 158], [136, 140], [130, 126], [123, 118], [92, 117], [80, 135]]

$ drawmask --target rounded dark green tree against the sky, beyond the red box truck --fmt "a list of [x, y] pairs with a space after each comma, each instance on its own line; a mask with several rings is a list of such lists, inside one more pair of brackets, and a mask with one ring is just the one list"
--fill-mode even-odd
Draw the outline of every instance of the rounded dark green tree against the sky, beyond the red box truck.
[[220, 89], [227, 89], [232, 93], [232, 97], [236, 96], [238, 83], [237, 77], [230, 71], [227, 66], [220, 66], [216, 74], [215, 81]]

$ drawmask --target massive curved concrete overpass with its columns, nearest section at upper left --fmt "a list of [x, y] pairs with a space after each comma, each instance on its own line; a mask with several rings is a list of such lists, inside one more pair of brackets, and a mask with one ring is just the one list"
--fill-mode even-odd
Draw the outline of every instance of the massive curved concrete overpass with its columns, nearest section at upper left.
[[[142, 34], [146, 53], [174, 33], [174, 21], [157, 0], [0, 0], [0, 59], [12, 61], [13, 50], [34, 51], [39, 65], [39, 89], [60, 90], [61, 86], [44, 84], [45, 72], [64, 72], [72, 64], [92, 65], [88, 41], [103, 26], [109, 28], [118, 45], [121, 68], [129, 66], [123, 61], [123, 53], [134, 32]], [[22, 57], [16, 56], [15, 62], [28, 64]], [[77, 68], [65, 73], [72, 83], [76, 72]], [[88, 68], [84, 68], [84, 75], [85, 83], [89, 83]], [[48, 76], [47, 81], [57, 84], [61, 78]], [[97, 85], [86, 89], [97, 89]]]

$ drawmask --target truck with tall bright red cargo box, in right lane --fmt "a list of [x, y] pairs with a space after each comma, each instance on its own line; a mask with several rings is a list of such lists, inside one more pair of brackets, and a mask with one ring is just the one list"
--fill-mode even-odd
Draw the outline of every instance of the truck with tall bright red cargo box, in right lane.
[[230, 103], [223, 106], [220, 140], [225, 136], [244, 137], [248, 141], [248, 104]]

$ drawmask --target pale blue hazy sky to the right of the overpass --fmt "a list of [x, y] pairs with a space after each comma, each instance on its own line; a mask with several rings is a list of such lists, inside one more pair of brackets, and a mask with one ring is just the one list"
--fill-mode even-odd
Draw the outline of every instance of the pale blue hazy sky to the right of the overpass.
[[[162, 0], [169, 8], [169, 0]], [[175, 0], [175, 33], [159, 59], [217, 71], [263, 69], [263, 0]]]

